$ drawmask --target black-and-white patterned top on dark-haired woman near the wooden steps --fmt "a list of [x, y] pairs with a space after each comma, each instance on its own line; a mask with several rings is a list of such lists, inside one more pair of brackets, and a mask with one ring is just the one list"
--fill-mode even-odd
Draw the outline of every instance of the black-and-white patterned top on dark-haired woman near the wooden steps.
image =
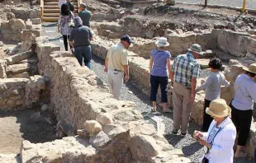
[[71, 19], [73, 18], [73, 12], [70, 12], [68, 16], [63, 16], [62, 14], [59, 14], [58, 25], [61, 35], [70, 35], [69, 21], [71, 21]]

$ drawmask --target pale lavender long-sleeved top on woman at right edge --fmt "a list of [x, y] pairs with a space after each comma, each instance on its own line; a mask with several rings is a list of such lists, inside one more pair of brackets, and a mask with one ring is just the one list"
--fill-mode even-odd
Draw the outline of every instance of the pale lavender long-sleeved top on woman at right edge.
[[238, 87], [232, 105], [239, 110], [254, 109], [254, 102], [256, 101], [256, 83], [254, 80], [246, 74], [241, 74], [235, 79], [234, 89], [236, 90]]

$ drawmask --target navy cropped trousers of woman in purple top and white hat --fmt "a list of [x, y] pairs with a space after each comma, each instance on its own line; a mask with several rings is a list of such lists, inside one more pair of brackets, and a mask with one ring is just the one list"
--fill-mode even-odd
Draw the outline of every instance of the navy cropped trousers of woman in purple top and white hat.
[[159, 85], [161, 88], [161, 102], [167, 102], [168, 92], [166, 91], [166, 87], [168, 85], [168, 77], [158, 77], [158, 76], [150, 76], [150, 100], [156, 101], [157, 94], [159, 90]]

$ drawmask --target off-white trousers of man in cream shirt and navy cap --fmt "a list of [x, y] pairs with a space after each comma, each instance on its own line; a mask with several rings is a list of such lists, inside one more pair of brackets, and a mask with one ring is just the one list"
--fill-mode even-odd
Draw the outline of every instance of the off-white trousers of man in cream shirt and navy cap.
[[107, 79], [110, 84], [111, 94], [114, 95], [116, 100], [119, 100], [121, 95], [121, 86], [123, 85], [124, 72], [115, 72], [107, 70]]

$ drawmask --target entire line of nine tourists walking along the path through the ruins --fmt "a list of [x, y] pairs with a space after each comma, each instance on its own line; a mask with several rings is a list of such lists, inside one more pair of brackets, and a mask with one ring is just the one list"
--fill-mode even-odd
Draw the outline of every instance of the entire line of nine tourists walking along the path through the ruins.
[[[86, 4], [79, 6], [81, 12], [74, 16], [70, 10], [70, 4], [61, 4], [58, 31], [63, 35], [64, 47], [68, 50], [68, 40], [71, 51], [82, 66], [91, 68], [92, 30], [90, 19], [92, 13], [86, 9]], [[72, 8], [72, 7], [71, 7]], [[69, 21], [73, 20], [74, 27], [69, 29]], [[123, 82], [129, 81], [128, 51], [133, 40], [129, 35], [123, 35], [118, 44], [113, 44], [107, 52], [105, 69], [110, 84], [111, 94], [116, 100], [120, 99]], [[225, 75], [220, 71], [222, 63], [220, 58], [211, 58], [209, 68], [211, 75], [199, 87], [197, 78], [200, 77], [201, 45], [192, 44], [187, 49], [187, 54], [178, 55], [171, 64], [171, 54], [166, 50], [169, 45], [164, 37], [155, 42], [149, 59], [150, 72], [150, 100], [153, 103], [152, 111], [157, 110], [157, 96], [160, 86], [161, 102], [164, 103], [163, 112], [172, 112], [168, 108], [168, 79], [173, 87], [173, 134], [185, 136], [190, 120], [192, 103], [198, 91], [205, 90], [205, 104], [203, 124], [200, 131], [195, 131], [193, 137], [204, 146], [205, 154], [201, 162], [233, 162], [235, 139], [237, 146], [235, 158], [245, 157], [244, 146], [249, 137], [249, 129], [253, 119], [254, 101], [256, 101], [256, 63], [249, 68], [244, 68], [244, 74], [240, 74], [234, 85], [235, 95], [227, 105], [220, 99], [220, 87], [230, 86], [225, 80]]]

